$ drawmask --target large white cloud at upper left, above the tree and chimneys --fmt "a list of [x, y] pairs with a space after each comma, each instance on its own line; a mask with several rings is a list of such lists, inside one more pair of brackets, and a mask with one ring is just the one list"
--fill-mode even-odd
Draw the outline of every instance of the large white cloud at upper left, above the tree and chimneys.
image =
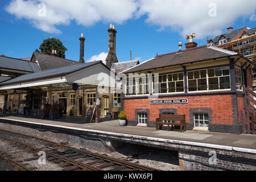
[[[40, 3], [46, 5], [45, 16], [42, 16]], [[30, 20], [34, 27], [42, 31], [60, 33], [56, 26], [67, 25], [71, 20], [83, 26], [100, 20], [123, 23], [133, 17], [137, 3], [135, 0], [12, 0], [5, 9], [19, 19]]]

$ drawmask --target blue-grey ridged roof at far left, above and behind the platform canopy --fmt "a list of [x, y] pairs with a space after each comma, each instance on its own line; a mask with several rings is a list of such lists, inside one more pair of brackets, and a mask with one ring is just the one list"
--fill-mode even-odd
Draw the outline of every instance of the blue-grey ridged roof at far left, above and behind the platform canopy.
[[6, 56], [0, 56], [0, 69], [10, 69], [11, 72], [16, 73], [33, 73], [40, 71], [40, 68], [37, 63]]

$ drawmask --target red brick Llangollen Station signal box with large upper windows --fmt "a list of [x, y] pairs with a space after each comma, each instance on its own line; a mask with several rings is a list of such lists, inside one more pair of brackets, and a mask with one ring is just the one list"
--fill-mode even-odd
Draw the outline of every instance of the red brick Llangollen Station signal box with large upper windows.
[[184, 50], [180, 42], [179, 51], [122, 72], [128, 125], [155, 127], [159, 114], [185, 114], [187, 130], [242, 133], [244, 89], [252, 90], [255, 64], [236, 52], [197, 47], [193, 37]]

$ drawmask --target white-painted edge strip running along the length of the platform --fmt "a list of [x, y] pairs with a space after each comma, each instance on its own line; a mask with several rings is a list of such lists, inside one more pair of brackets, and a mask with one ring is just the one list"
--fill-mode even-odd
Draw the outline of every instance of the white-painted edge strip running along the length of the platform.
[[80, 129], [80, 128], [77, 128], [77, 127], [68, 127], [68, 126], [52, 125], [52, 124], [46, 124], [46, 123], [22, 121], [22, 120], [18, 120], [18, 119], [10, 119], [10, 118], [0, 118], [0, 119], [6, 119], [6, 120], [10, 120], [10, 121], [18, 121], [18, 122], [23, 122], [23, 123], [31, 123], [31, 124], [35, 124], [35, 125], [60, 127], [60, 128], [64, 128], [64, 129], [88, 131], [88, 132], [93, 132], [93, 133], [117, 135], [117, 136], [122, 136], [122, 137], [130, 137], [130, 138], [132, 137], [132, 138], [138, 138], [138, 139], [155, 140], [155, 141], [159, 141], [159, 142], [187, 144], [187, 145], [192, 145], [192, 146], [200, 146], [200, 147], [208, 147], [208, 148], [218, 148], [218, 149], [222, 149], [222, 150], [229, 150], [229, 151], [233, 150], [233, 151], [237, 151], [237, 152], [245, 152], [245, 153], [256, 154], [256, 150], [255, 149], [250, 149], [250, 148], [222, 146], [222, 145], [218, 145], [218, 144], [199, 143], [199, 142], [188, 142], [188, 141], [183, 141], [183, 140], [172, 140], [172, 139], [163, 139], [163, 138], [154, 138], [154, 137], [144, 137], [144, 136], [139, 136], [139, 135], [129, 135], [129, 134], [113, 133], [113, 132], [109, 132], [109, 131]]

